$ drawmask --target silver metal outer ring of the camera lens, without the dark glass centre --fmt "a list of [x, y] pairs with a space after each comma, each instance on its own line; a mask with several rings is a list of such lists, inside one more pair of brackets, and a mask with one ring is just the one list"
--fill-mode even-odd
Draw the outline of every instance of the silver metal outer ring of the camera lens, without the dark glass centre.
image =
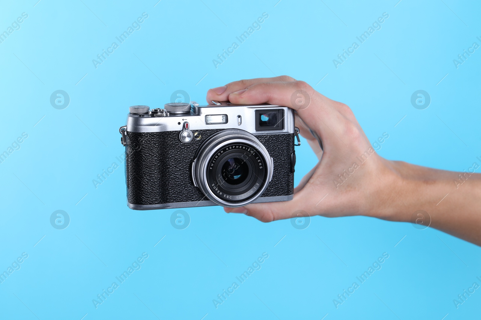
[[[254, 154], [258, 153], [264, 159], [265, 167], [263, 168], [264, 178], [262, 185], [250, 190], [250, 195], [246, 200], [236, 201], [233, 196], [233, 200], [227, 201], [223, 199], [227, 194], [225, 192], [214, 192], [209, 188], [209, 177], [207, 177], [207, 171], [209, 166], [212, 166], [211, 160], [215, 153], [222, 153], [221, 150], [224, 147], [228, 147], [229, 144], [244, 144], [251, 146], [255, 149]], [[230, 152], [230, 150], [228, 150]], [[251, 152], [251, 154], [253, 154]], [[194, 182], [199, 187], [199, 189], [209, 198], [209, 200], [215, 202], [215, 204], [224, 207], [241, 207], [246, 204], [253, 202], [266, 190], [270, 179], [272, 178], [273, 163], [272, 158], [266, 150], [266, 147], [257, 140], [251, 133], [239, 130], [239, 129], [228, 129], [217, 132], [216, 134], [209, 137], [201, 146], [197, 158], [194, 160], [192, 166], [192, 177]], [[251, 177], [252, 178], [252, 177]], [[244, 193], [245, 196], [248, 193]], [[239, 195], [241, 197], [241, 195]]]

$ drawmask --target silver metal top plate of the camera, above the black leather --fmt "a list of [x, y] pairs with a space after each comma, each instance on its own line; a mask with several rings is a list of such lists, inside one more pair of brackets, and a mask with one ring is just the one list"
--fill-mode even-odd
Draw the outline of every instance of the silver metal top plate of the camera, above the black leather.
[[[164, 132], [180, 131], [184, 121], [189, 122], [189, 129], [241, 129], [254, 135], [260, 134], [279, 134], [294, 133], [294, 111], [289, 107], [262, 105], [234, 105], [222, 102], [219, 105], [199, 106], [192, 103], [193, 110], [190, 113], [170, 114], [166, 117], [150, 117], [148, 114], [137, 115], [128, 114], [127, 131], [130, 132]], [[283, 109], [284, 110], [284, 129], [256, 131], [255, 130], [255, 110], [259, 109]], [[205, 124], [206, 115], [227, 115], [226, 124]], [[241, 124], [238, 125], [238, 116], [241, 116]]]

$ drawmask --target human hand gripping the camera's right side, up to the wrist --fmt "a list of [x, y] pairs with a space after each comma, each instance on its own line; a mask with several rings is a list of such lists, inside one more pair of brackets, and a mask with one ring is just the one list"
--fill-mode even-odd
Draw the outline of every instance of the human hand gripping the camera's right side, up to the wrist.
[[[308, 95], [304, 98], [310, 100], [309, 104], [292, 105], [291, 96], [299, 90]], [[212, 100], [293, 108], [296, 126], [319, 160], [295, 188], [293, 200], [224, 208], [227, 213], [245, 213], [263, 222], [291, 218], [298, 210], [329, 217], [383, 217], [383, 202], [403, 205], [387, 187], [396, 181], [391, 162], [374, 151], [351, 109], [319, 94], [307, 83], [289, 76], [241, 80], [210, 89], [207, 101]], [[309, 129], [320, 137], [323, 150]]]

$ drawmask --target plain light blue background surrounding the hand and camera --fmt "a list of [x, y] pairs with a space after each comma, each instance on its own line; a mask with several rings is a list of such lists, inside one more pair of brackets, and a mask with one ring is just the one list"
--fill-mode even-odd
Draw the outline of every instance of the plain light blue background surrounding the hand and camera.
[[[120, 165], [127, 107], [161, 107], [178, 89], [205, 103], [208, 88], [281, 74], [349, 105], [370, 141], [388, 132], [380, 155], [468, 169], [481, 156], [481, 49], [458, 69], [453, 59], [481, 45], [479, 2], [36, 1], [4, 1], [0, 11], [1, 31], [28, 14], [0, 44], [0, 152], [28, 134], [0, 164], [0, 271], [28, 254], [0, 284], [1, 319], [479, 316], [480, 289], [458, 309], [453, 299], [481, 284], [480, 248], [432, 228], [315, 216], [297, 230], [289, 220], [264, 224], [203, 207], [186, 209], [190, 225], [177, 230], [174, 210], [127, 208], [123, 164], [97, 189], [92, 183]], [[92, 59], [142, 12], [149, 17], [141, 29], [94, 68]], [[263, 12], [262, 28], [215, 69], [217, 54]], [[382, 28], [336, 69], [332, 59], [383, 12]], [[425, 110], [410, 103], [418, 89], [431, 96]], [[69, 94], [67, 108], [51, 106], [55, 90]], [[316, 158], [307, 143], [296, 154], [298, 183]], [[70, 215], [66, 229], [51, 226], [55, 210]], [[141, 269], [94, 308], [92, 299], [142, 252], [149, 258]], [[212, 300], [263, 252], [262, 269], [216, 309]], [[383, 252], [382, 269], [336, 309], [332, 300]]]

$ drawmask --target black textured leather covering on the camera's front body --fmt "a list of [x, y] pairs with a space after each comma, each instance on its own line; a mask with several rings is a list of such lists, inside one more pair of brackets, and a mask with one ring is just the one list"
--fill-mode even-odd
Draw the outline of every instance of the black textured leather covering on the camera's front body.
[[[192, 162], [202, 143], [220, 130], [196, 130], [202, 139], [189, 143], [179, 140], [179, 131], [127, 131], [127, 200], [132, 204], [161, 204], [209, 200], [192, 180]], [[291, 154], [294, 134], [255, 136], [274, 159], [272, 180], [261, 197], [291, 195], [294, 174]]]

